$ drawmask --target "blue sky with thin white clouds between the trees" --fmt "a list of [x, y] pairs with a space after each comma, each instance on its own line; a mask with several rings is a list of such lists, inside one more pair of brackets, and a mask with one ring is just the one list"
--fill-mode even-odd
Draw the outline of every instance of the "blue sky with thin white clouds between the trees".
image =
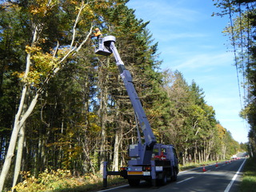
[[229, 18], [211, 16], [218, 12], [212, 0], [130, 0], [126, 5], [137, 18], [150, 21], [147, 28], [158, 42], [162, 70], [179, 70], [189, 84], [194, 80], [222, 126], [236, 141], [247, 142], [249, 128], [238, 115], [234, 53], [222, 34]]

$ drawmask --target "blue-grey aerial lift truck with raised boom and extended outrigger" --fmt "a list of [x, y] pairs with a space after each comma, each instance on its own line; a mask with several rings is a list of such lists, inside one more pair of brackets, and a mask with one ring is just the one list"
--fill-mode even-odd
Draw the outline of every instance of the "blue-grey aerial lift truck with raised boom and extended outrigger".
[[120, 171], [108, 171], [107, 162], [104, 162], [103, 187], [107, 186], [108, 175], [120, 175], [128, 179], [130, 186], [138, 186], [141, 180], [151, 182], [153, 186], [165, 185], [167, 178], [177, 180], [178, 157], [174, 146], [157, 143], [150, 122], [146, 118], [142, 103], [134, 88], [133, 78], [130, 71], [126, 70], [118, 50], [115, 46], [116, 38], [112, 35], [98, 39], [95, 54], [109, 56], [114, 54], [116, 65], [126, 86], [130, 102], [134, 108], [136, 121], [142, 129], [145, 142], [142, 142], [140, 131], [138, 130], [138, 143], [130, 145], [127, 167], [121, 167]]

